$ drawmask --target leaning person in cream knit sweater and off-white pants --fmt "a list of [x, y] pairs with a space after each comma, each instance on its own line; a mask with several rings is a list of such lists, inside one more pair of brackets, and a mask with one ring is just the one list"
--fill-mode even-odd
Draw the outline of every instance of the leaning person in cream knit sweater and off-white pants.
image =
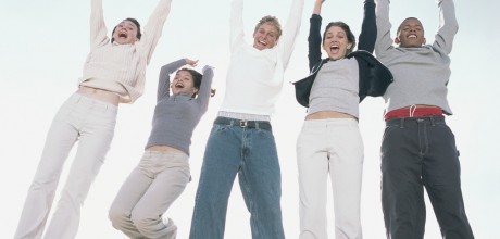
[[90, 52], [78, 89], [57, 113], [41, 160], [29, 187], [15, 239], [41, 238], [64, 162], [78, 149], [45, 238], [76, 236], [82, 204], [104, 162], [120, 103], [142, 95], [146, 66], [162, 34], [172, 0], [160, 0], [141, 34], [139, 23], [126, 18], [108, 35], [102, 0], [91, 0]]

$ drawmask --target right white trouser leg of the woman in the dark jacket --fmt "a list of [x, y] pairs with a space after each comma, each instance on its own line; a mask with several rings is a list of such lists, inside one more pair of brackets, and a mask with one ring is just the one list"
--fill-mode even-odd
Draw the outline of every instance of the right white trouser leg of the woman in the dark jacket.
[[329, 173], [334, 194], [335, 238], [362, 239], [361, 183], [364, 148], [358, 122], [336, 118], [327, 124], [332, 146]]

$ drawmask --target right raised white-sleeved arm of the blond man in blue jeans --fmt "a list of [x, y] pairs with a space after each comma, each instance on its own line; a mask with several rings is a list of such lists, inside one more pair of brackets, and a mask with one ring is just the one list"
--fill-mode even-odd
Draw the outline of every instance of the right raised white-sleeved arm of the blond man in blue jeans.
[[302, 20], [302, 10], [304, 5], [304, 0], [293, 0], [290, 8], [290, 13], [288, 14], [287, 24], [283, 29], [283, 36], [278, 41], [278, 47], [280, 48], [283, 68], [286, 70], [288, 66], [288, 61], [291, 58], [293, 52], [293, 45], [297, 39], [297, 36], [300, 32], [300, 23]]

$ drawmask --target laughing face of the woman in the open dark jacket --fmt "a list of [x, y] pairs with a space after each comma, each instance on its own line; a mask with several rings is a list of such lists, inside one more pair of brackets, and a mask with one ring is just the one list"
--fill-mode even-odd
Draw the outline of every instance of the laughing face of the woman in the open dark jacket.
[[330, 26], [324, 35], [323, 49], [332, 60], [346, 58], [352, 50], [353, 43], [349, 42], [348, 35], [340, 26]]

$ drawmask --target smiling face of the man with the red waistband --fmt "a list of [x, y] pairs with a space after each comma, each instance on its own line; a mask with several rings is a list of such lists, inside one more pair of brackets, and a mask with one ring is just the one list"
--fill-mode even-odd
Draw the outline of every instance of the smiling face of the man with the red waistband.
[[415, 17], [404, 20], [398, 28], [395, 42], [402, 48], [420, 48], [425, 45], [424, 27]]

